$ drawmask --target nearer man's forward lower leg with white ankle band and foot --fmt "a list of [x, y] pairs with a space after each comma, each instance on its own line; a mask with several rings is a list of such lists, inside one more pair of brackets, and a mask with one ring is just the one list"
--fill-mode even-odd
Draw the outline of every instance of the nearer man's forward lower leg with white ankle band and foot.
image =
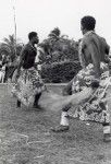
[[71, 108], [71, 104], [62, 108], [60, 125], [55, 128], [51, 128], [52, 131], [62, 132], [69, 130], [70, 125], [69, 125], [67, 112], [70, 108]]

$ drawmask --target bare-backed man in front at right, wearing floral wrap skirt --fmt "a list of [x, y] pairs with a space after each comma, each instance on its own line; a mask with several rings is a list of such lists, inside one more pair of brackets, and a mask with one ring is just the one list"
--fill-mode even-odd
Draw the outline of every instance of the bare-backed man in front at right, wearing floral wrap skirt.
[[[92, 16], [84, 16], [81, 20], [83, 38], [79, 43], [78, 55], [83, 69], [74, 77], [69, 86], [72, 89], [72, 94], [81, 92], [85, 87], [97, 87], [92, 98], [86, 105], [76, 109], [75, 117], [82, 120], [101, 122], [103, 141], [111, 141], [110, 120], [106, 101], [106, 90], [110, 84], [109, 68], [106, 63], [109, 46], [104, 38], [95, 33], [95, 25], [96, 20]], [[60, 126], [52, 128], [54, 132], [69, 130], [67, 110], [70, 108], [70, 105], [62, 108]]]

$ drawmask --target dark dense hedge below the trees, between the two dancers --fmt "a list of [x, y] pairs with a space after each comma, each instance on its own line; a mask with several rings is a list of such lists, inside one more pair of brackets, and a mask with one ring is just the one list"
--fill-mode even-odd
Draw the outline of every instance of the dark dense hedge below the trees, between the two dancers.
[[81, 69], [81, 65], [75, 61], [61, 61], [51, 65], [42, 65], [41, 78], [45, 82], [69, 82]]

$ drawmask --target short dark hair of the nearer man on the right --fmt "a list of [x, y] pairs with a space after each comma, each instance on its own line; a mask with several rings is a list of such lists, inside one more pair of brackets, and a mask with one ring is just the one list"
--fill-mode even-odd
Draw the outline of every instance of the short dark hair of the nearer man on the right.
[[96, 25], [96, 20], [95, 17], [87, 15], [81, 20], [81, 24], [83, 25], [83, 28], [87, 31], [94, 31]]

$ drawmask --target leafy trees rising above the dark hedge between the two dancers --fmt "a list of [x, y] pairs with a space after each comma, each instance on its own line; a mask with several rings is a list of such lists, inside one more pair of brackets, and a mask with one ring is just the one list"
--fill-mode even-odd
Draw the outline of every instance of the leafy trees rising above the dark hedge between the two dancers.
[[60, 30], [55, 27], [50, 32], [48, 38], [39, 44], [45, 51], [40, 56], [41, 63], [78, 60], [77, 43], [60, 34]]

